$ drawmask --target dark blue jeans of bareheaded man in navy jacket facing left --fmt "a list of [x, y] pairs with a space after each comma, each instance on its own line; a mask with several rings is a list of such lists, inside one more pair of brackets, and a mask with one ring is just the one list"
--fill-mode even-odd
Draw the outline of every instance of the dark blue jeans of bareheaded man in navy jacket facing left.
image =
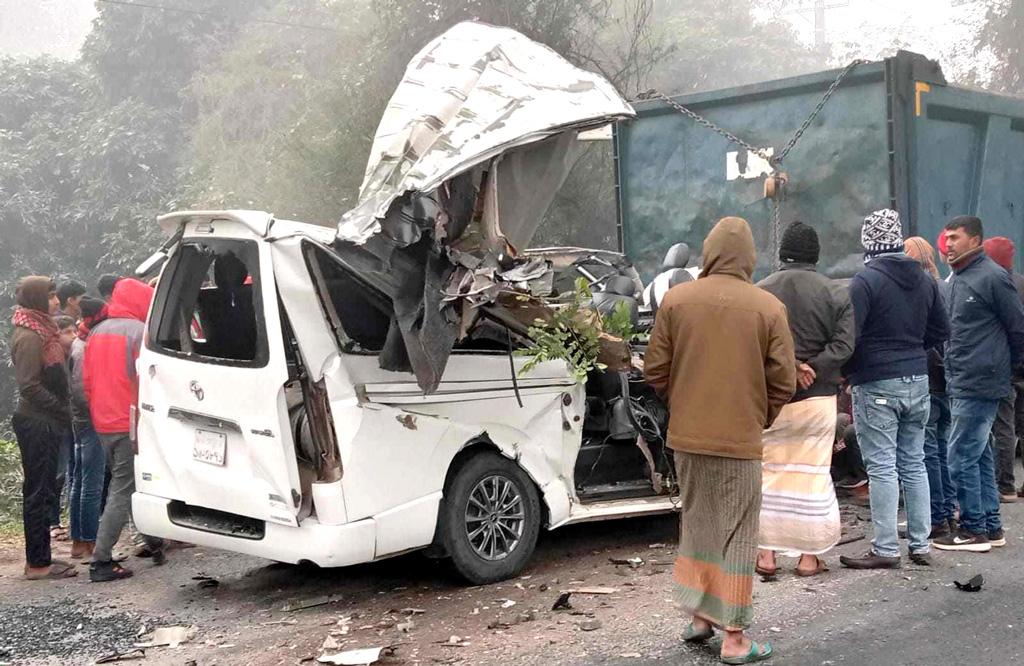
[[999, 408], [997, 400], [954, 398], [949, 434], [949, 472], [961, 503], [961, 529], [986, 534], [1002, 528], [995, 462], [989, 434]]

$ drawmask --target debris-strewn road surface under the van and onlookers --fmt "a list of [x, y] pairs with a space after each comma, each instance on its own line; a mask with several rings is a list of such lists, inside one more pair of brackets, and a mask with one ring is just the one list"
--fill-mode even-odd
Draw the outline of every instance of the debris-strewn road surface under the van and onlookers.
[[[1006, 548], [937, 552], [931, 568], [841, 568], [839, 555], [863, 551], [866, 540], [829, 553], [831, 571], [813, 579], [797, 578], [796, 559], [780, 558], [777, 581], [755, 584], [752, 635], [772, 641], [772, 664], [1024, 663], [1024, 504], [1006, 505], [1002, 514]], [[867, 515], [846, 507], [847, 532], [869, 530]], [[686, 619], [671, 600], [676, 519], [557, 530], [542, 539], [522, 578], [481, 587], [415, 554], [317, 570], [203, 548], [172, 551], [161, 568], [132, 558], [136, 577], [124, 583], [89, 584], [84, 572], [30, 583], [20, 579], [19, 549], [7, 547], [0, 549], [0, 662], [91, 664], [155, 627], [195, 625], [188, 643], [132, 663], [301, 666], [329, 651], [330, 638], [335, 650], [395, 646], [387, 665], [717, 664], [717, 639], [691, 647], [678, 638]], [[630, 557], [643, 565], [615, 564]], [[977, 573], [986, 579], [980, 592], [953, 586]], [[203, 587], [203, 576], [219, 584]], [[573, 594], [571, 611], [551, 610], [561, 590], [581, 586], [615, 591]], [[330, 595], [324, 605], [285, 611], [323, 595]], [[459, 646], [447, 644], [452, 636]]]

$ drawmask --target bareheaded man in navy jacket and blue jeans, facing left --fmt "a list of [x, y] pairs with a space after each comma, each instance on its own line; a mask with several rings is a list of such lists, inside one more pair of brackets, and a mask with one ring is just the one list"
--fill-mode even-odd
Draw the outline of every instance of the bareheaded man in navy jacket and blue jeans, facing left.
[[949, 471], [961, 519], [955, 534], [935, 540], [941, 550], [986, 552], [1007, 544], [989, 434], [1013, 370], [1024, 363], [1024, 305], [1010, 274], [985, 256], [983, 241], [977, 217], [962, 215], [946, 225], [953, 269], [945, 358], [953, 422]]

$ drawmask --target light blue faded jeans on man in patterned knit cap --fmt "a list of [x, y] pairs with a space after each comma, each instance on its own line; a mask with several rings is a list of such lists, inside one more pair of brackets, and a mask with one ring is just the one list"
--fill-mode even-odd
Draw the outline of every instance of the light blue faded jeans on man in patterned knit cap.
[[882, 379], [853, 387], [857, 442], [870, 480], [871, 549], [883, 557], [899, 557], [900, 482], [906, 496], [910, 552], [931, 550], [931, 497], [925, 468], [928, 409], [927, 376]]

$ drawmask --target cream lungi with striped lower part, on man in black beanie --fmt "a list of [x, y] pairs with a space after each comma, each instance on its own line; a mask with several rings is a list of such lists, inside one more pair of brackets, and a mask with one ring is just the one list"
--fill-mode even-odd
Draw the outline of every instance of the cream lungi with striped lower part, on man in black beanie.
[[836, 397], [782, 408], [765, 430], [758, 545], [817, 555], [839, 543], [839, 502], [831, 483]]

